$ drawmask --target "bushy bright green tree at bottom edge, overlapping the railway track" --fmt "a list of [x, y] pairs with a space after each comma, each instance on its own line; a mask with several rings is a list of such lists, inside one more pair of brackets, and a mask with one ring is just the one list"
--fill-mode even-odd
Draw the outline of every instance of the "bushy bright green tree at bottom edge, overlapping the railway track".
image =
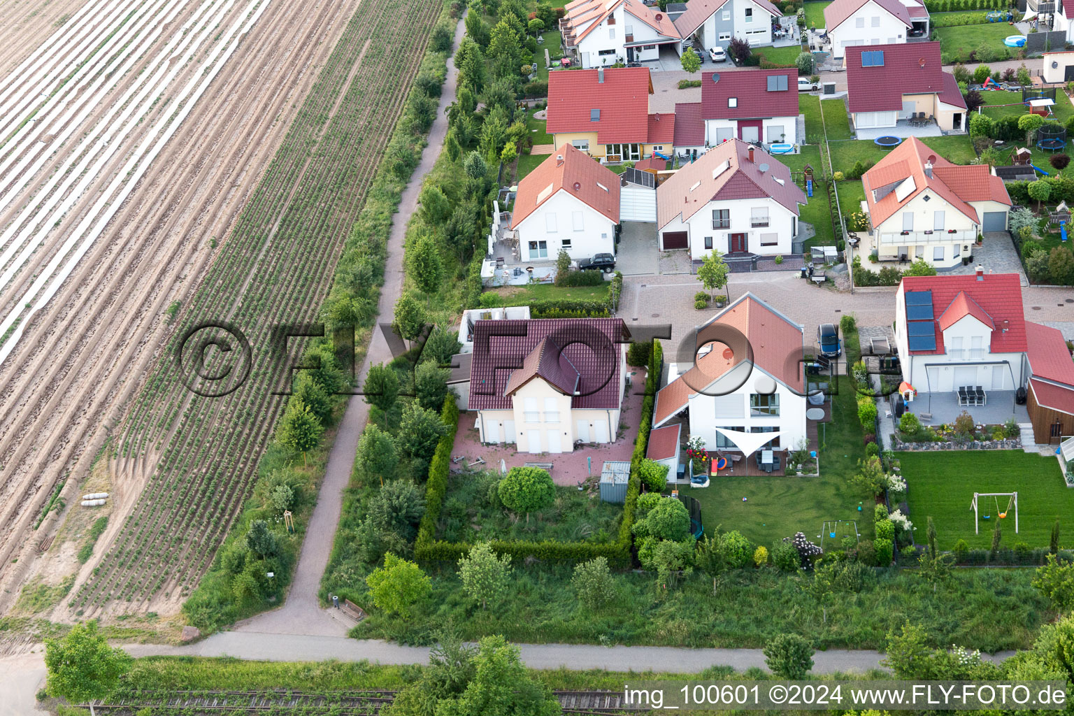
[[562, 712], [555, 697], [526, 671], [519, 648], [503, 637], [482, 638], [466, 690], [440, 701], [436, 716], [553, 716]]

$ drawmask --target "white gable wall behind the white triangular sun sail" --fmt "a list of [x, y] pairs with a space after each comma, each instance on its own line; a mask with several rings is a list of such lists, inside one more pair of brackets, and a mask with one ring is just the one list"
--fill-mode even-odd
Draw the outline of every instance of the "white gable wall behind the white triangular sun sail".
[[[691, 435], [699, 435], [705, 438], [706, 449], [716, 449], [716, 427], [734, 427], [751, 430], [753, 427], [777, 426], [780, 428], [781, 449], [789, 448], [794, 450], [798, 441], [807, 437], [806, 435], [806, 396], [796, 395], [789, 388], [779, 380], [775, 381], [775, 394], [780, 396], [780, 414], [751, 415], [750, 394], [754, 392], [754, 382], [757, 377], [767, 375], [760, 368], [753, 367], [752, 372], [743, 382], [743, 376], [750, 368], [749, 363], [740, 364], [728, 372], [721, 381], [709, 389], [710, 393], [719, 393], [721, 383], [728, 388], [742, 383], [737, 390], [728, 393], [735, 396], [732, 399], [740, 399], [737, 412], [724, 412], [716, 414], [716, 396], [698, 394], [690, 400], [690, 430]], [[736, 417], [739, 415], [739, 417]]]

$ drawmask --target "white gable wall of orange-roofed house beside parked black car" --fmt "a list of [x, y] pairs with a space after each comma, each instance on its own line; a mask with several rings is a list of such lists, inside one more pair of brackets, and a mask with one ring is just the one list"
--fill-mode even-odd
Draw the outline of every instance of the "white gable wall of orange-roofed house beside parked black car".
[[[612, 187], [609, 187], [611, 190]], [[581, 214], [581, 230], [576, 230], [575, 215]], [[549, 231], [549, 216], [555, 218], [555, 231]], [[519, 224], [519, 251], [522, 261], [555, 261], [569, 240], [571, 259], [589, 259], [595, 253], [615, 253], [615, 224], [585, 202], [561, 189]], [[548, 255], [531, 255], [529, 242], [546, 242]]]

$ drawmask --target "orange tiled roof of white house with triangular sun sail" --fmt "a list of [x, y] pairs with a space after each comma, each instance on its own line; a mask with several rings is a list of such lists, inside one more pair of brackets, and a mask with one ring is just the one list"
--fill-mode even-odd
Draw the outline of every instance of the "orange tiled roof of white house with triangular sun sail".
[[[720, 323], [738, 331], [741, 345], [714, 342], [686, 372], [656, 393], [653, 425], [659, 426], [738, 364], [752, 361], [780, 382], [802, 390], [802, 326], [792, 322], [752, 293], [745, 293], [706, 323]], [[732, 342], [738, 342], [729, 338]]]

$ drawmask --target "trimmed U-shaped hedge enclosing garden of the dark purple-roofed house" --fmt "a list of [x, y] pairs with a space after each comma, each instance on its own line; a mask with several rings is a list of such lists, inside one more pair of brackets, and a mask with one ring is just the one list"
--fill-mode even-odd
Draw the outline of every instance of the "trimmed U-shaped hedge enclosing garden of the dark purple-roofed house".
[[[656, 400], [656, 388], [659, 381], [664, 350], [658, 340], [653, 340], [652, 355], [645, 375], [645, 397], [641, 407], [641, 421], [638, 425], [638, 437], [634, 443], [634, 455], [630, 458], [630, 478], [626, 486], [626, 501], [623, 505], [623, 516], [620, 520], [619, 535], [614, 542], [595, 544], [592, 542], [556, 542], [543, 540], [492, 540], [490, 545], [497, 554], [509, 554], [511, 557], [525, 559], [534, 557], [542, 561], [589, 561], [596, 557], [606, 557], [615, 567], [626, 568], [630, 565], [632, 530], [634, 526], [634, 510], [641, 492], [641, 477], [638, 468], [645, 456], [649, 445], [649, 430], [652, 427], [653, 406]], [[440, 438], [429, 468], [429, 483], [425, 489], [425, 514], [422, 515], [418, 528], [418, 539], [415, 541], [415, 559], [421, 562], [440, 561], [455, 562], [469, 553], [468, 542], [447, 542], [437, 540], [436, 524], [440, 518], [440, 509], [448, 489], [448, 468], [451, 464], [451, 449], [454, 444], [455, 429], [459, 425], [459, 409], [451, 396], [444, 403], [441, 413], [444, 421], [451, 426], [448, 434]]]

